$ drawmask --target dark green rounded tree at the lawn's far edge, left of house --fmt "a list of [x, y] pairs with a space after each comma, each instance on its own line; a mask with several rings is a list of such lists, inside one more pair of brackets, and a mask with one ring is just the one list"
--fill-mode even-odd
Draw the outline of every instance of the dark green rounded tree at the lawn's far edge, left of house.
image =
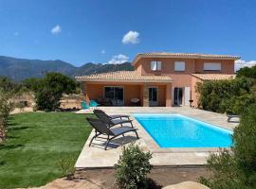
[[[31, 80], [30, 80], [31, 81]], [[46, 77], [33, 80], [37, 109], [41, 111], [55, 111], [60, 107], [63, 94], [76, 91], [77, 83], [74, 79], [59, 73], [47, 73]]]

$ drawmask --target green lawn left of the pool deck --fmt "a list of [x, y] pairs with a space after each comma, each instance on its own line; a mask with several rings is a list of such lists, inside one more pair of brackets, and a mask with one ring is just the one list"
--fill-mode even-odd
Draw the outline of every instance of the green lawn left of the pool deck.
[[0, 145], [0, 188], [40, 186], [60, 178], [59, 160], [76, 160], [90, 131], [84, 115], [72, 112], [10, 116], [8, 140]]

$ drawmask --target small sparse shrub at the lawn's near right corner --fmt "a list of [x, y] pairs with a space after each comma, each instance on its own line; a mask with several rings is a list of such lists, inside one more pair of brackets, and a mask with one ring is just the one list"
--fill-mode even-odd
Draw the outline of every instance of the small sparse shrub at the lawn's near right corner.
[[61, 159], [59, 161], [59, 166], [62, 171], [62, 177], [65, 177], [67, 180], [71, 180], [75, 173], [75, 163], [76, 159], [74, 157], [69, 157], [67, 159]]

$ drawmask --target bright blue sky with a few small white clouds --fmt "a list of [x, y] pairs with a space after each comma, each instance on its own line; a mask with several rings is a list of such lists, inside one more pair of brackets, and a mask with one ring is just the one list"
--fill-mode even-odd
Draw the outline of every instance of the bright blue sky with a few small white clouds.
[[255, 9], [254, 0], [0, 0], [0, 55], [77, 66], [155, 51], [256, 60]]

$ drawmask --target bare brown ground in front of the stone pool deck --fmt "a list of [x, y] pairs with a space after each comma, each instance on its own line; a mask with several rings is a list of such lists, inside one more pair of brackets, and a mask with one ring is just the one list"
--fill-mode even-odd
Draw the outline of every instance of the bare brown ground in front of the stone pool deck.
[[[77, 171], [74, 180], [54, 180], [40, 189], [114, 189], [114, 169], [93, 169]], [[154, 168], [149, 178], [158, 186], [167, 186], [186, 180], [197, 181], [200, 176], [208, 177], [210, 173], [204, 167], [164, 167]]]

